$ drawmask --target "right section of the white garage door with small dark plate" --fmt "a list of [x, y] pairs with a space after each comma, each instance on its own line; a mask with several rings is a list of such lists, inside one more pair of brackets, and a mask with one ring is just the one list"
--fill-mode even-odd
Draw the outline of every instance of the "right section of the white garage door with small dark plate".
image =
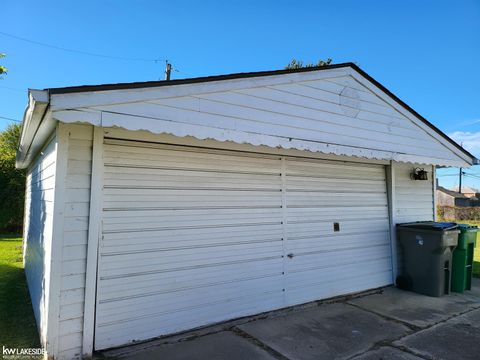
[[383, 166], [287, 160], [286, 194], [287, 304], [391, 283]]

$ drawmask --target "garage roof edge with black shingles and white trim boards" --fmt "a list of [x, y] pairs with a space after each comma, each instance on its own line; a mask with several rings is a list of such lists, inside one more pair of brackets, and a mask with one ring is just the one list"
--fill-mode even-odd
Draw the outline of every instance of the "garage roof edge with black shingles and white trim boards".
[[[275, 77], [280, 75], [288, 75], [288, 74], [307, 74], [307, 73], [320, 73], [326, 71], [332, 71], [335, 69], [349, 69], [353, 70], [352, 73], [358, 74], [360, 77], [363, 77], [367, 82], [373, 84], [373, 86], [377, 87], [385, 96], [392, 99], [396, 102], [400, 107], [406, 110], [409, 114], [413, 115], [416, 119], [418, 119], [421, 123], [426, 125], [431, 131], [439, 138], [442, 139], [444, 144], [448, 144], [448, 147], [457, 153], [464, 161], [464, 165], [473, 165], [478, 164], [478, 160], [475, 158], [474, 155], [469, 153], [467, 150], [462, 148], [458, 145], [455, 141], [453, 141], [450, 137], [448, 137], [445, 133], [439, 130], [436, 126], [430, 123], [427, 119], [423, 116], [418, 114], [414, 109], [408, 106], [405, 102], [399, 99], [396, 95], [390, 92], [385, 86], [380, 84], [370, 75], [368, 75], [365, 71], [359, 68], [354, 63], [341, 63], [341, 64], [333, 64], [327, 65], [322, 67], [309, 67], [309, 68], [301, 68], [301, 69], [288, 69], [288, 70], [275, 70], [275, 71], [260, 71], [260, 72], [247, 72], [247, 73], [235, 73], [235, 74], [228, 74], [228, 75], [218, 75], [218, 76], [207, 76], [207, 77], [198, 77], [198, 78], [189, 78], [189, 79], [178, 79], [178, 80], [169, 80], [169, 81], [148, 81], [148, 82], [134, 82], [134, 83], [118, 83], [118, 84], [104, 84], [104, 85], [86, 85], [86, 86], [73, 86], [73, 87], [62, 87], [62, 88], [49, 88], [44, 90], [30, 90], [29, 92], [29, 106], [25, 112], [24, 116], [24, 126], [22, 131], [22, 138], [20, 143], [20, 148], [17, 157], [17, 165], [19, 167], [27, 166], [29, 160], [32, 157], [32, 154], [35, 153], [35, 150], [38, 150], [38, 142], [35, 138], [38, 136], [45, 136], [45, 133], [48, 131], [51, 132], [52, 127], [54, 126], [54, 122], [52, 121], [43, 121], [43, 118], [48, 113], [48, 110], [71, 110], [77, 107], [84, 107], [88, 105], [88, 101], [92, 98], [91, 96], [94, 94], [103, 94], [102, 96], [105, 98], [106, 93], [118, 93], [118, 91], [131, 91], [131, 90], [138, 90], [139, 96], [141, 96], [142, 92], [147, 91], [148, 89], [152, 88], [176, 88], [180, 85], [201, 85], [201, 84], [208, 84], [208, 83], [216, 83], [221, 84], [223, 82], [241, 80], [241, 79], [262, 79], [267, 77]], [[182, 87], [184, 88], [184, 86]], [[66, 103], [63, 101], [65, 98], [71, 99], [69, 95], [79, 95], [81, 96], [80, 101], [78, 103]], [[84, 96], [85, 94], [85, 96]], [[87, 96], [87, 94], [89, 96]], [[53, 101], [55, 97], [61, 98], [62, 101], [59, 101], [60, 104]], [[135, 98], [138, 98], [135, 97]], [[90, 99], [90, 100], [86, 100]], [[51, 114], [50, 114], [51, 115]], [[94, 115], [91, 115], [94, 116]], [[47, 116], [48, 117], [48, 116]], [[50, 116], [51, 117], [51, 116]], [[56, 117], [58, 120], [59, 117]], [[47, 119], [51, 120], [51, 119]], [[60, 119], [60, 121], [62, 121]], [[68, 122], [68, 121], [67, 121]], [[94, 125], [98, 125], [95, 121], [87, 121]], [[148, 129], [147, 129], [148, 130]], [[195, 134], [189, 134], [195, 136]], [[214, 137], [213, 137], [214, 138]], [[220, 139], [219, 139], [220, 140]], [[222, 139], [225, 140], [225, 139]], [[233, 139], [226, 139], [232, 140]], [[438, 164], [438, 165], [452, 165], [452, 164]]]

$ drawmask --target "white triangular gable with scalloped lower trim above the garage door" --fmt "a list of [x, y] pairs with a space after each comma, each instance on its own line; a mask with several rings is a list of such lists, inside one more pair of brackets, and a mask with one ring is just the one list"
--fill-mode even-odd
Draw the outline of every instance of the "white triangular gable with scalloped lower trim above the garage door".
[[[92, 123], [101, 118], [104, 127], [197, 139], [369, 159], [458, 161], [418, 120], [360, 81], [339, 70], [190, 84], [188, 91], [185, 86], [142, 89], [136, 96], [127, 90], [115, 92], [117, 97], [106, 92], [95, 99], [91, 93], [82, 99], [62, 94], [52, 101], [58, 116], [67, 122], [84, 116]], [[91, 105], [69, 114], [60, 106], [67, 99], [78, 105], [90, 99]]]

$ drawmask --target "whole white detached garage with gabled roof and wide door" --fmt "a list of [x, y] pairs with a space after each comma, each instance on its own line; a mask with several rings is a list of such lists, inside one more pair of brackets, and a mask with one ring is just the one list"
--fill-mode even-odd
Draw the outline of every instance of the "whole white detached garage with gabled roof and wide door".
[[80, 358], [390, 285], [395, 224], [435, 217], [435, 166], [476, 161], [351, 63], [30, 90], [42, 343]]

